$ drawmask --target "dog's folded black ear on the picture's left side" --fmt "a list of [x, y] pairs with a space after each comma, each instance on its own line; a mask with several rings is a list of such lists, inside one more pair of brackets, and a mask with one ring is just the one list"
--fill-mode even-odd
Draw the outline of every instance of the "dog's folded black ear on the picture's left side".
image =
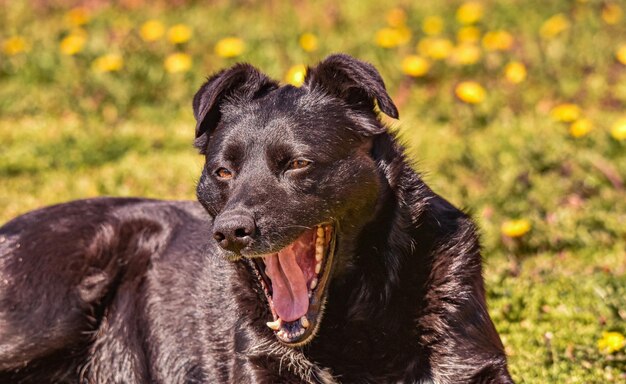
[[193, 97], [196, 118], [195, 146], [204, 151], [209, 134], [222, 117], [221, 103], [227, 98], [252, 100], [278, 88], [278, 83], [250, 64], [233, 67], [209, 77]]

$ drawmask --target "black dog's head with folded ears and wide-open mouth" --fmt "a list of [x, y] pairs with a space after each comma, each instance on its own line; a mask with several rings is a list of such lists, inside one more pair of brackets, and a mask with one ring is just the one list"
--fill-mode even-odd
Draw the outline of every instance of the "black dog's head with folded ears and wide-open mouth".
[[309, 68], [300, 88], [238, 64], [194, 97], [198, 199], [224, 255], [251, 266], [287, 345], [315, 335], [330, 280], [375, 210], [376, 105], [398, 117], [376, 69], [346, 55]]

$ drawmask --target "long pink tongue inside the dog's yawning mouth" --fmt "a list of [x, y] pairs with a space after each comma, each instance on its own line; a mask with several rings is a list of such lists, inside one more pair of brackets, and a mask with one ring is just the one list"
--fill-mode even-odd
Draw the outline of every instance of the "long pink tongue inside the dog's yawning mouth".
[[296, 261], [297, 246], [265, 256], [265, 274], [272, 280], [274, 309], [283, 321], [298, 320], [309, 310], [306, 280]]

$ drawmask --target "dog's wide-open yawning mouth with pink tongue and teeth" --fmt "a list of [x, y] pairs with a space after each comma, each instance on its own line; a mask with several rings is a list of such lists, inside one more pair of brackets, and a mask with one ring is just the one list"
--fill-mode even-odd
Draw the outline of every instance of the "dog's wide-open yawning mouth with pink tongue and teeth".
[[334, 248], [334, 227], [320, 224], [277, 253], [248, 259], [273, 316], [267, 326], [281, 342], [298, 346], [315, 335], [322, 318]]

